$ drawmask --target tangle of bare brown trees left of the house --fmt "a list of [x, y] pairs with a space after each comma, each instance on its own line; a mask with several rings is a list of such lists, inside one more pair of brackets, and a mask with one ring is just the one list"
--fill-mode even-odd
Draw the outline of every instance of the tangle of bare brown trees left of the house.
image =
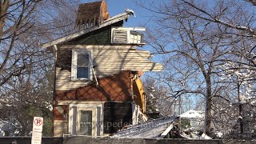
[[1, 118], [16, 120], [22, 135], [33, 116], [51, 115], [53, 55], [39, 44], [73, 33], [77, 8], [76, 0], [0, 1], [0, 99], [14, 111]]

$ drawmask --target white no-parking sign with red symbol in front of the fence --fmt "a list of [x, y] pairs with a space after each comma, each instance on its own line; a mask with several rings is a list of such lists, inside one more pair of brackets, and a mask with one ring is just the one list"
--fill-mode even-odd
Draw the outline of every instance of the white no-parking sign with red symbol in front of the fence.
[[31, 144], [42, 143], [42, 117], [34, 117]]

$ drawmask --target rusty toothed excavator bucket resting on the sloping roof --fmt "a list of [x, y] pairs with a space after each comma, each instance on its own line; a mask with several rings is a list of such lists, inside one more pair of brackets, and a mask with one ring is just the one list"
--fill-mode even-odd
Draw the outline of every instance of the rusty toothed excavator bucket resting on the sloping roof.
[[105, 1], [84, 3], [78, 7], [75, 26], [77, 30], [90, 29], [94, 26], [100, 26], [108, 18], [110, 15]]

